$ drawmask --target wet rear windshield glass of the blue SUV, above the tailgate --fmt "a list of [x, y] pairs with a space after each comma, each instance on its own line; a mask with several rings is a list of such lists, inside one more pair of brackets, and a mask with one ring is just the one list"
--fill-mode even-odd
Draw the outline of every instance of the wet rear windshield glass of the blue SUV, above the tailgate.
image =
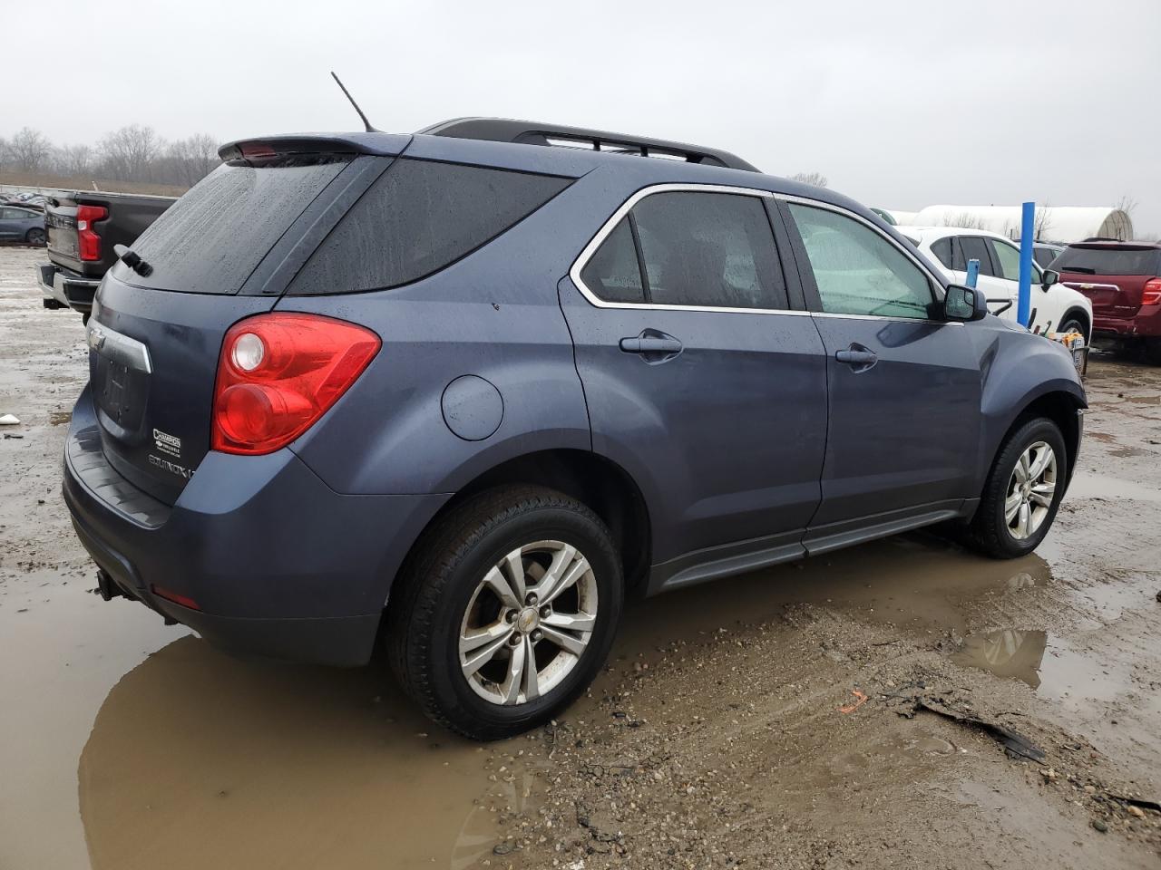
[[153, 271], [131, 283], [190, 293], [236, 293], [254, 267], [336, 175], [345, 160], [308, 165], [223, 165], [134, 242]]

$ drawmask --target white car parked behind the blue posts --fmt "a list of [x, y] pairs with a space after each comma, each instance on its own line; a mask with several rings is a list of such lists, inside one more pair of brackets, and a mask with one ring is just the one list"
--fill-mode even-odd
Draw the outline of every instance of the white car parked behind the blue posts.
[[[1010, 240], [986, 230], [953, 226], [896, 229], [942, 267], [947, 281], [964, 283], [967, 280], [967, 261], [979, 260], [979, 287], [987, 295], [991, 310], [1002, 318], [1016, 320], [1019, 248]], [[1059, 278], [1055, 271], [1032, 263], [1033, 317], [1029, 327], [1040, 332], [1076, 329], [1089, 341], [1093, 332], [1093, 305], [1083, 293], [1061, 285]]]

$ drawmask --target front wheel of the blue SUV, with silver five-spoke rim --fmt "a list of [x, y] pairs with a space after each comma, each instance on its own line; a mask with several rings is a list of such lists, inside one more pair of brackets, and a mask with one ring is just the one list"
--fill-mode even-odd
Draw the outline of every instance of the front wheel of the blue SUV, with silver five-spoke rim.
[[[1017, 465], [1025, 454], [1034, 445], [1043, 445], [1051, 451], [1048, 466], [1039, 476], [1039, 495], [1036, 498], [1034, 481], [1032, 491], [1027, 491], [1018, 479]], [[1039, 464], [1044, 449], [1034, 450], [1031, 454], [1032, 471]], [[995, 559], [1016, 559], [1032, 552], [1048, 534], [1060, 500], [1065, 494], [1065, 481], [1068, 479], [1068, 455], [1065, 451], [1065, 438], [1052, 420], [1038, 416], [1025, 420], [1016, 427], [1001, 447], [996, 461], [988, 473], [988, 481], [983, 487], [980, 498], [980, 506], [972, 519], [969, 528], [969, 543], [980, 552]], [[1044, 484], [1047, 481], [1051, 471], [1053, 484], [1051, 500], [1044, 505], [1047, 493]], [[1016, 490], [1021, 490], [1025, 498], [1017, 496]], [[1009, 520], [1009, 512], [1012, 501], [1017, 498], [1018, 505], [1016, 515]], [[1023, 508], [1027, 508], [1030, 523], [1023, 524]], [[1015, 525], [1014, 525], [1015, 524]], [[1033, 528], [1034, 527], [1034, 528]]]

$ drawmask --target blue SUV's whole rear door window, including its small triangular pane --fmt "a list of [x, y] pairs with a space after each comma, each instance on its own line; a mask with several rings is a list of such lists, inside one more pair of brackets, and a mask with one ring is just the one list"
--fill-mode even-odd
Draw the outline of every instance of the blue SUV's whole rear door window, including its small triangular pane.
[[644, 197], [585, 263], [580, 278], [592, 293], [614, 303], [788, 307], [765, 206], [741, 194]]

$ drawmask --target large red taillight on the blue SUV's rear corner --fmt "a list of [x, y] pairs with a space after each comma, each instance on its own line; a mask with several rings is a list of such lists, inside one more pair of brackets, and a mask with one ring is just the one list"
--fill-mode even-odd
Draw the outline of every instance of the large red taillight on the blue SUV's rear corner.
[[274, 312], [230, 327], [214, 387], [210, 445], [269, 454], [326, 413], [382, 342], [370, 329], [318, 314]]

